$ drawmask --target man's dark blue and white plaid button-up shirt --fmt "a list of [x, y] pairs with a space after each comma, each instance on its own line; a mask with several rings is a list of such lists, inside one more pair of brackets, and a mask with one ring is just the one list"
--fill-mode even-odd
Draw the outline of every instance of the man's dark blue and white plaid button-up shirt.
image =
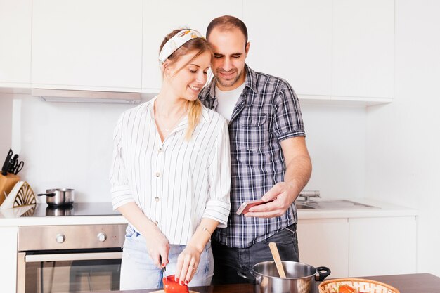
[[[285, 80], [254, 72], [245, 65], [246, 85], [229, 122], [231, 141], [231, 214], [227, 228], [217, 228], [213, 238], [228, 247], [245, 248], [292, 223], [295, 204], [283, 216], [245, 218], [236, 214], [240, 204], [261, 198], [285, 178], [280, 141], [305, 136], [298, 98]], [[202, 103], [215, 109], [215, 78], [202, 89]]]

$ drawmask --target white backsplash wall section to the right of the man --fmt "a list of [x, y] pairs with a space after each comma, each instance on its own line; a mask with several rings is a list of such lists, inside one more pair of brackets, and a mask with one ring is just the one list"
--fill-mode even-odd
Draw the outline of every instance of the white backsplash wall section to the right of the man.
[[365, 196], [365, 108], [302, 103], [313, 171], [306, 190], [323, 199]]

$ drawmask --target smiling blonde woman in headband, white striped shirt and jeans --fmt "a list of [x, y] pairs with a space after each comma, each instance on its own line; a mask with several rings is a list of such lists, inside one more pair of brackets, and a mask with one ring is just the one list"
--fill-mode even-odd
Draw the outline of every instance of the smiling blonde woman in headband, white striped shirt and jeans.
[[112, 203], [129, 221], [121, 289], [162, 287], [165, 266], [181, 285], [211, 282], [209, 240], [231, 209], [226, 120], [198, 100], [211, 58], [199, 32], [168, 34], [160, 93], [117, 122]]

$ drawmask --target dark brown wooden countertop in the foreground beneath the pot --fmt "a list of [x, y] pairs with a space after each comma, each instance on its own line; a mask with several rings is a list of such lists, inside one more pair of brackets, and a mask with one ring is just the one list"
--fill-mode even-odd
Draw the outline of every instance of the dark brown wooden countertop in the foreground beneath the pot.
[[[440, 278], [429, 273], [380, 275], [361, 278], [384, 282], [395, 287], [396, 289], [399, 289], [400, 293], [439, 293], [440, 288]], [[254, 286], [247, 284], [192, 287], [190, 289], [200, 293], [254, 293]], [[148, 293], [153, 291], [155, 290], [146, 289], [115, 291], [115, 293]]]

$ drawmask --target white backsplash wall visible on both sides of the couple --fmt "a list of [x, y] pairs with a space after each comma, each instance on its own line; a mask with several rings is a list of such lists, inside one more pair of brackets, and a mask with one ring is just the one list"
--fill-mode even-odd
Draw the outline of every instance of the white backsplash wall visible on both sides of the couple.
[[[18, 130], [11, 141], [25, 161], [19, 175], [35, 193], [75, 188], [76, 202], [110, 201], [112, 129], [131, 105], [49, 103], [8, 94], [0, 100], [11, 105], [1, 108], [0, 117], [14, 111], [10, 127]], [[365, 108], [304, 103], [302, 111], [313, 159], [306, 188], [321, 190], [326, 199], [363, 197]]]

